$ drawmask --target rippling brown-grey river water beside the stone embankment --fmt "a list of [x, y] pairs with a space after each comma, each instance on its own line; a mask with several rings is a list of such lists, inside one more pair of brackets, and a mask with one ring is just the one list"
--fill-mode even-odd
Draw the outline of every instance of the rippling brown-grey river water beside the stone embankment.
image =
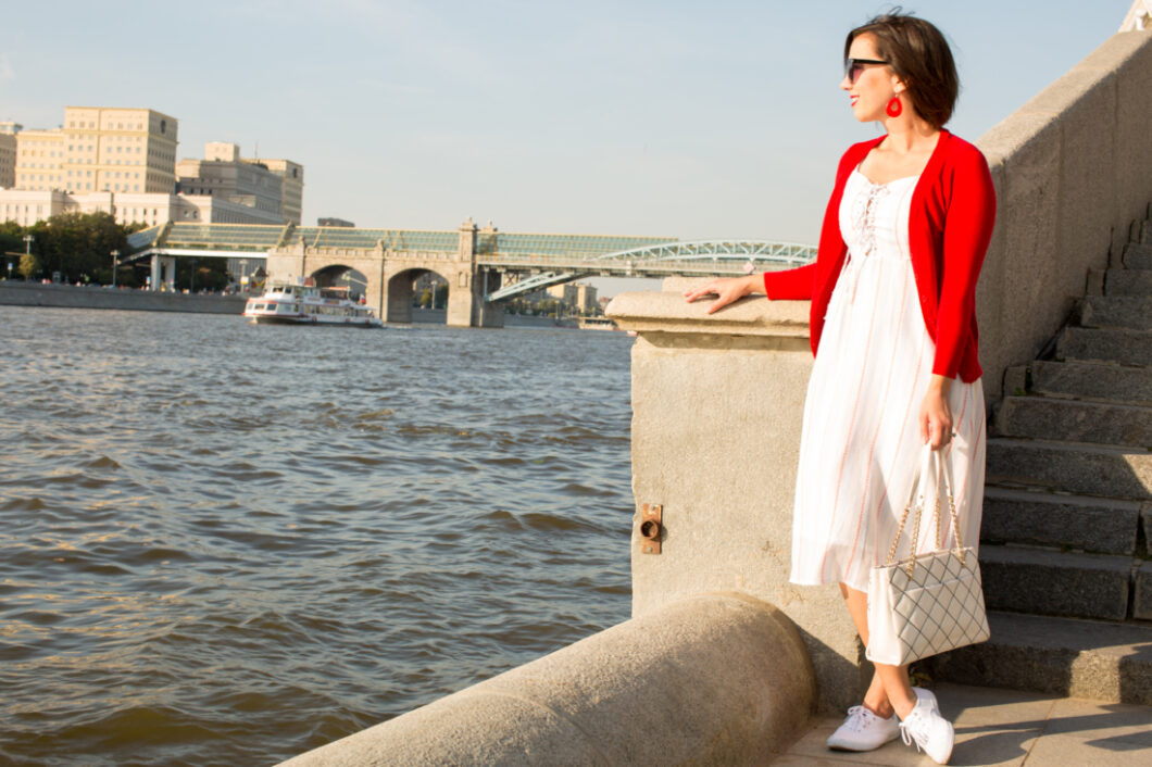
[[624, 334], [0, 328], [0, 765], [272, 764], [629, 615]]

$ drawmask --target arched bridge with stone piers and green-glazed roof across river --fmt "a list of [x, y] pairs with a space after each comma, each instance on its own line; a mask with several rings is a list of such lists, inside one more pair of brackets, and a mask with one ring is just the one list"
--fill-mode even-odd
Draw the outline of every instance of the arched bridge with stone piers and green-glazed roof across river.
[[124, 261], [152, 259], [153, 287], [170, 283], [173, 259], [188, 256], [263, 260], [273, 280], [355, 269], [388, 321], [410, 321], [412, 282], [434, 272], [449, 284], [448, 324], [465, 326], [500, 326], [499, 302], [585, 276], [743, 274], [816, 258], [814, 246], [796, 243], [516, 234], [471, 220], [456, 230], [175, 222], [138, 231], [129, 245]]

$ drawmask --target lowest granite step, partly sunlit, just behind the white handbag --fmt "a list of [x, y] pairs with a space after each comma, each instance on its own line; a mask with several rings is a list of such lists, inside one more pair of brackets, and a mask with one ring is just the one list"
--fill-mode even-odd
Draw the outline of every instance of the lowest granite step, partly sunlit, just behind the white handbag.
[[923, 662], [934, 681], [1152, 705], [1152, 625], [988, 613], [992, 637]]

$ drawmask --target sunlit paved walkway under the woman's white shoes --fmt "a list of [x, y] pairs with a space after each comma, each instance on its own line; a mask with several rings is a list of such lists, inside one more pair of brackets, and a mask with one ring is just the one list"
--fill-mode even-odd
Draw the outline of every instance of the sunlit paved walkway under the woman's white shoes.
[[[956, 726], [950, 765], [1026, 767], [1149, 767], [1152, 706], [1121, 706], [1079, 698], [938, 684], [940, 711]], [[846, 767], [934, 764], [899, 738], [869, 753], [824, 745], [842, 717], [813, 720], [811, 729], [776, 757], [774, 767]]]

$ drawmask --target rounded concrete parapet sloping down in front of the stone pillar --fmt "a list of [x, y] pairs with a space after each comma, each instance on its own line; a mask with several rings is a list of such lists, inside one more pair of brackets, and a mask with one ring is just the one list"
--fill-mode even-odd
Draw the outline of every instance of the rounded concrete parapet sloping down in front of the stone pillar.
[[766, 764], [806, 722], [813, 694], [780, 610], [703, 594], [283, 764]]

